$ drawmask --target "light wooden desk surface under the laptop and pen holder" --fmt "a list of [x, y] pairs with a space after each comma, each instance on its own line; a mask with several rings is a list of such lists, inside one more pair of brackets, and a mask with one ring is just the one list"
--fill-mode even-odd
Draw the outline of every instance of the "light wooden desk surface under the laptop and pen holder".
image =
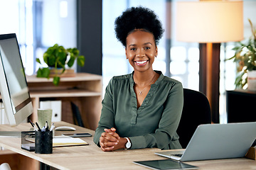
[[[55, 123], [56, 127], [60, 125], [70, 125], [75, 127], [75, 132], [94, 131], [80, 128], [69, 123]], [[1, 131], [6, 130], [29, 130], [30, 125], [24, 123], [17, 127], [11, 128], [9, 125], [0, 125]], [[55, 131], [55, 135], [61, 132]], [[160, 149], [130, 149], [118, 150], [114, 152], [102, 152], [92, 141], [92, 137], [82, 138], [89, 145], [78, 147], [53, 147], [53, 154], [35, 154], [21, 149], [21, 138], [0, 137], [0, 146], [10, 149], [26, 157], [31, 157], [40, 162], [53, 166], [57, 169], [146, 169], [143, 166], [133, 164], [134, 161], [166, 159], [160, 157], [154, 152], [161, 152]], [[163, 151], [164, 152], [164, 151]], [[200, 169], [256, 169], [256, 161], [252, 159], [219, 159], [199, 162], [186, 162]]]

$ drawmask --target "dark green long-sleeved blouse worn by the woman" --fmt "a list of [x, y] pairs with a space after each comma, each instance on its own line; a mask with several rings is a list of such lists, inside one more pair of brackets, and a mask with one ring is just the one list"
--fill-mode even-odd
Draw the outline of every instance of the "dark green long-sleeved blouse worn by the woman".
[[165, 77], [151, 84], [142, 106], [137, 108], [133, 73], [113, 77], [102, 101], [102, 113], [94, 142], [99, 145], [104, 129], [116, 128], [120, 137], [129, 137], [131, 149], [158, 147], [181, 149], [176, 130], [183, 108], [183, 87]]

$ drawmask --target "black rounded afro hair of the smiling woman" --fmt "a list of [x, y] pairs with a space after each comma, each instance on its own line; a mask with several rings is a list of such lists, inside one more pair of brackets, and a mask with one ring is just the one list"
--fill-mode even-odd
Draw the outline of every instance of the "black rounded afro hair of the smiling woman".
[[156, 44], [159, 43], [164, 33], [161, 21], [159, 21], [154, 11], [142, 6], [128, 8], [121, 16], [116, 18], [114, 25], [117, 40], [122, 42], [124, 47], [126, 47], [127, 36], [134, 29], [142, 29], [152, 33]]

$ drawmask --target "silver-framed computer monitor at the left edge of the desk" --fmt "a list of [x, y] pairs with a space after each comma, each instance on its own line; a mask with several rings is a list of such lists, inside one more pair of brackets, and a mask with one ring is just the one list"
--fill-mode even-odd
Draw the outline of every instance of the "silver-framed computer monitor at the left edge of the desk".
[[33, 113], [16, 34], [0, 35], [0, 92], [11, 126]]

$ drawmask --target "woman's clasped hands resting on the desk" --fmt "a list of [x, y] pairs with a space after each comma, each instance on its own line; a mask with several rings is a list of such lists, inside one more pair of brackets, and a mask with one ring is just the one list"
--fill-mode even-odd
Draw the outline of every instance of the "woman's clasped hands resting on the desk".
[[100, 137], [100, 147], [103, 151], [114, 151], [117, 149], [124, 149], [127, 140], [119, 137], [115, 128], [105, 129]]

